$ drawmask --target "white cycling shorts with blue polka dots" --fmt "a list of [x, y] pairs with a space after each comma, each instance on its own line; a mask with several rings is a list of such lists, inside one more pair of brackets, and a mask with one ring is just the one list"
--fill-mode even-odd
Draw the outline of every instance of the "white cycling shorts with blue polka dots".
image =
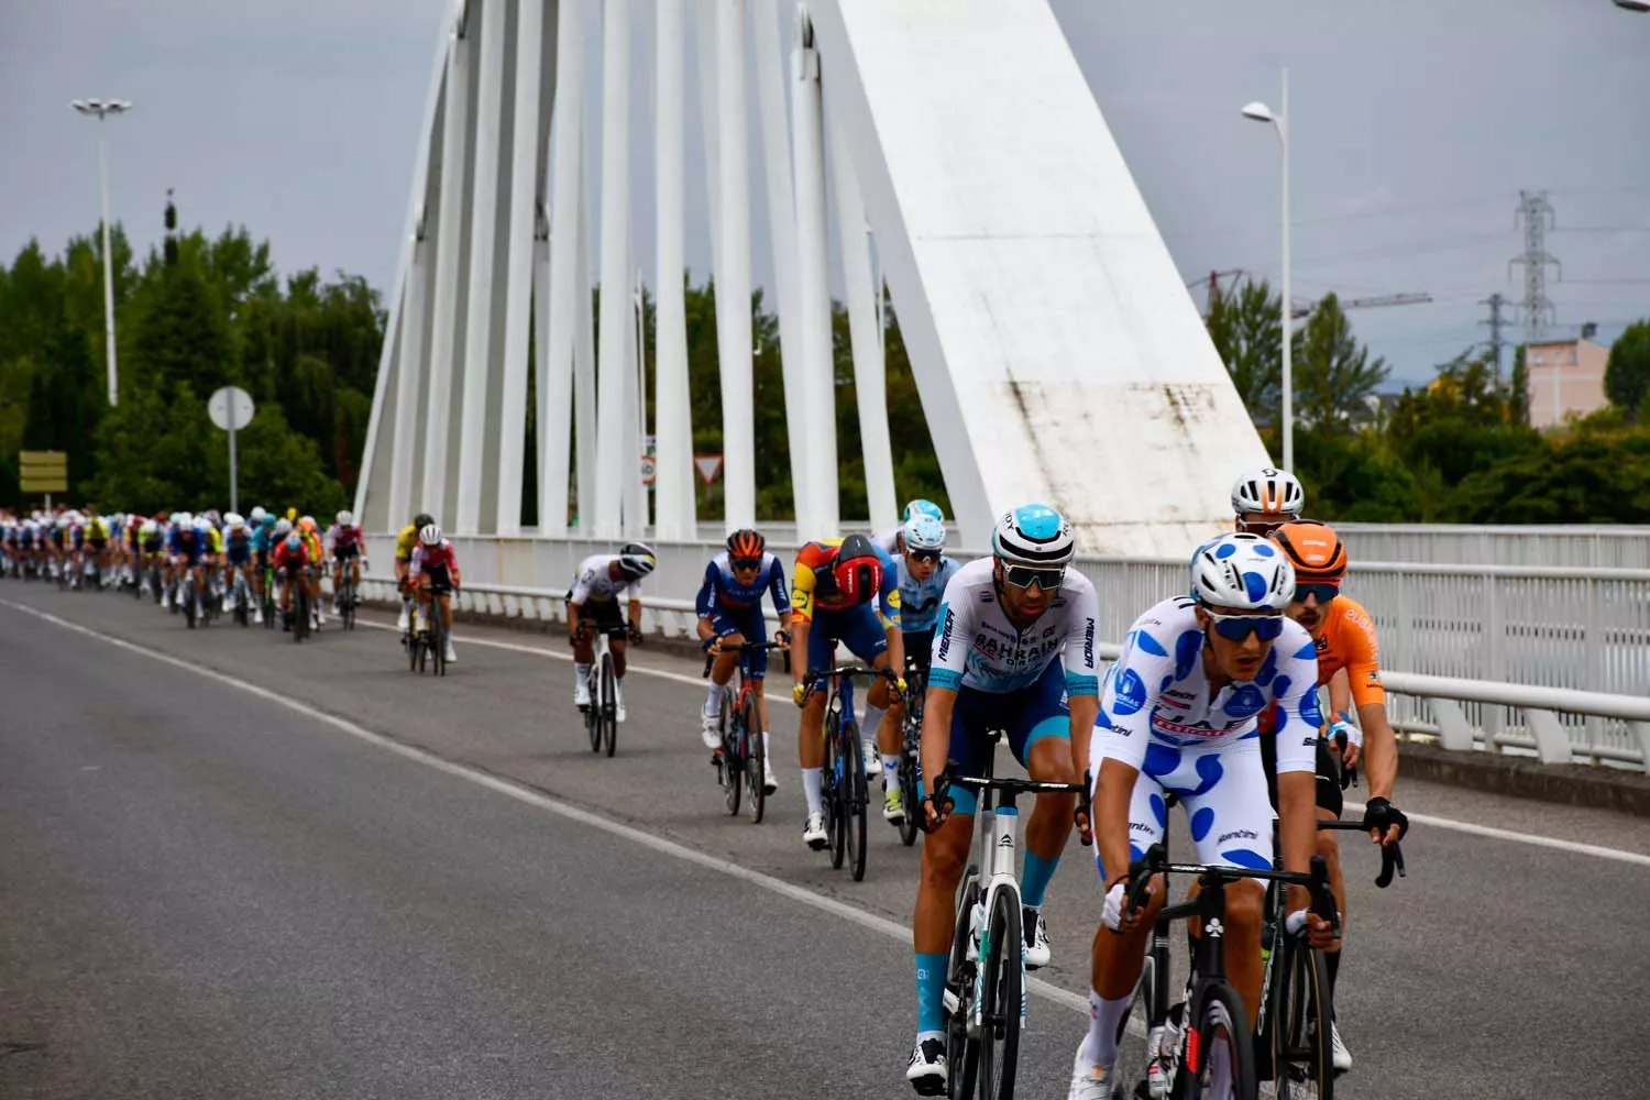
[[[1270, 871], [1272, 805], [1266, 800], [1261, 740], [1251, 737], [1181, 747], [1150, 742], [1129, 800], [1129, 859], [1140, 859], [1147, 848], [1163, 839], [1168, 830], [1163, 795], [1173, 793], [1186, 808], [1198, 863]], [[1099, 736], [1092, 740], [1092, 782], [1101, 775], [1104, 744]], [[1094, 863], [1102, 889], [1127, 871], [1101, 864], [1097, 848]]]

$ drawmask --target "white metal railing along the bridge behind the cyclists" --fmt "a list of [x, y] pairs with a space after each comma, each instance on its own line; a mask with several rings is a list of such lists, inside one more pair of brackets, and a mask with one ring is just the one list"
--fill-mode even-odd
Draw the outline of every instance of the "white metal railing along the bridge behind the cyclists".
[[[579, 562], [612, 543], [455, 536], [462, 607], [559, 618]], [[370, 536], [388, 564], [393, 536]], [[792, 546], [771, 544], [785, 556]], [[693, 597], [719, 543], [655, 543], [644, 585], [652, 625], [691, 630]], [[1101, 637], [1186, 585], [1172, 559], [1079, 557], [1101, 602]], [[383, 569], [380, 569], [383, 572]], [[1394, 724], [1445, 747], [1482, 742], [1544, 760], [1650, 759], [1650, 571], [1365, 562], [1346, 590], [1374, 617]], [[1115, 648], [1104, 650], [1115, 656]]]

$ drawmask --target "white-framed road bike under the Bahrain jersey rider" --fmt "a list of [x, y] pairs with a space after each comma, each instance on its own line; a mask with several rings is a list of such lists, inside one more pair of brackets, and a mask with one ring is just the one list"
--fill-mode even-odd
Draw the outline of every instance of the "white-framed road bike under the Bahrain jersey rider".
[[[997, 778], [993, 757], [1003, 731], [985, 734], [983, 775], [947, 775], [945, 787], [978, 792], [978, 854], [957, 892], [957, 924], [945, 966], [945, 1062], [950, 1097], [1006, 1100], [1015, 1095], [1020, 1032], [1026, 1024], [1025, 907], [1018, 848], [1021, 795], [1082, 795], [1082, 783]], [[917, 813], [921, 813], [921, 803]]]

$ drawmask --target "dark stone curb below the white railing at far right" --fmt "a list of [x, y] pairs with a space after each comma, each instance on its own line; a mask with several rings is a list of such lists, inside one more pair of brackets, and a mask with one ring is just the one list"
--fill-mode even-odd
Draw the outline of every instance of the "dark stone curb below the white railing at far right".
[[[1541, 764], [1534, 757], [1495, 752], [1449, 752], [1406, 740], [1398, 754], [1398, 773], [1568, 806], [1615, 810], [1650, 818], [1650, 775], [1589, 764]], [[1399, 798], [1399, 803], [1402, 798]]]

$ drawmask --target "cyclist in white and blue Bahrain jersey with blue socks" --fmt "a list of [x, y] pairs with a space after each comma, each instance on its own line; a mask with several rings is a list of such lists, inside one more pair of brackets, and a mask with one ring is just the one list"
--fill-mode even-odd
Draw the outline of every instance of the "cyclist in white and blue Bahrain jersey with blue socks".
[[[945, 965], [977, 808], [975, 792], [950, 788], [947, 769], [978, 775], [990, 752], [985, 734], [1000, 729], [1031, 778], [1074, 783], [1072, 742], [1089, 736], [1099, 712], [1099, 600], [1094, 584], [1071, 569], [1076, 552], [1064, 516], [1048, 505], [1023, 505], [997, 521], [992, 556], [969, 562], [945, 585], [922, 704], [927, 836], [911, 920], [917, 1041], [906, 1080], [921, 1095], [945, 1092]], [[1026, 825], [1021, 900], [1030, 968], [1049, 961], [1043, 897], [1071, 836], [1074, 801], [1038, 795]]]

